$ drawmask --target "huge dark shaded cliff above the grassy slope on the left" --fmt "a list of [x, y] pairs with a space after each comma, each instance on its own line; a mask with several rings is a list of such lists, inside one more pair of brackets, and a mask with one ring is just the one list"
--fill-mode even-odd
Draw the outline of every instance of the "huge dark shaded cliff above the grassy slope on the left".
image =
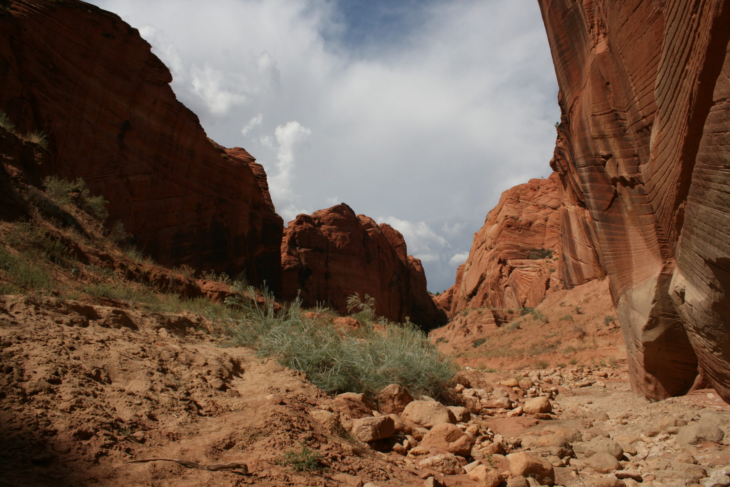
[[245, 269], [277, 291], [283, 221], [263, 168], [219, 153], [171, 80], [137, 29], [98, 7], [0, 9], [0, 110], [22, 133], [47, 132], [55, 161], [43, 170], [83, 177], [161, 264]]

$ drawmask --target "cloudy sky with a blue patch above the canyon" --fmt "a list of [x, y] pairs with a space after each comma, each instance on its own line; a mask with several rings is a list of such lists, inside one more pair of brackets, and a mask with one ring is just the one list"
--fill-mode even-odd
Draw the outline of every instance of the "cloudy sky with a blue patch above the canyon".
[[431, 291], [512, 185], [547, 177], [558, 92], [536, 0], [92, 0], [139, 28], [284, 221], [346, 202]]

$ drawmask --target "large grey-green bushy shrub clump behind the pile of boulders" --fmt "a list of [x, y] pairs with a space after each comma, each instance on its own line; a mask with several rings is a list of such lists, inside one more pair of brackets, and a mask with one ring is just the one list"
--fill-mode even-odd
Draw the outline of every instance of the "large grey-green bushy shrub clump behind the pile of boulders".
[[381, 321], [376, 330], [366, 322], [356, 331], [338, 331], [304, 318], [299, 299], [282, 310], [274, 309], [268, 294], [265, 299], [265, 306], [240, 296], [226, 299], [228, 306], [246, 310], [245, 319], [228, 320], [231, 344], [275, 357], [330, 394], [374, 394], [398, 383], [414, 394], [440, 396], [456, 373], [453, 362], [412, 323]]

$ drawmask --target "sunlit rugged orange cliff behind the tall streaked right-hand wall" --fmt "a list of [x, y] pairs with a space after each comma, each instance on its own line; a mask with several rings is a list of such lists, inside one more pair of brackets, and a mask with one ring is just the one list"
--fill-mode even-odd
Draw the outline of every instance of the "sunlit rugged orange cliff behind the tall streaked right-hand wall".
[[465, 308], [535, 307], [562, 288], [558, 183], [553, 173], [502, 193], [475, 234], [456, 283], [436, 298], [449, 317]]

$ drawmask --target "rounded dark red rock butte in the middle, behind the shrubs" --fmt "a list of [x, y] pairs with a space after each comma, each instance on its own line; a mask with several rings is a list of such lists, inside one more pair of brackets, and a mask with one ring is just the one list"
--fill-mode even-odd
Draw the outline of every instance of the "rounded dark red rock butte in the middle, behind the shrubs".
[[369, 294], [377, 315], [402, 322], [408, 316], [426, 329], [446, 322], [426, 291], [418, 258], [407, 255], [399, 231], [356, 215], [337, 204], [312, 215], [297, 215], [281, 245], [283, 298], [297, 292], [304, 306], [318, 302], [347, 312], [347, 297]]

